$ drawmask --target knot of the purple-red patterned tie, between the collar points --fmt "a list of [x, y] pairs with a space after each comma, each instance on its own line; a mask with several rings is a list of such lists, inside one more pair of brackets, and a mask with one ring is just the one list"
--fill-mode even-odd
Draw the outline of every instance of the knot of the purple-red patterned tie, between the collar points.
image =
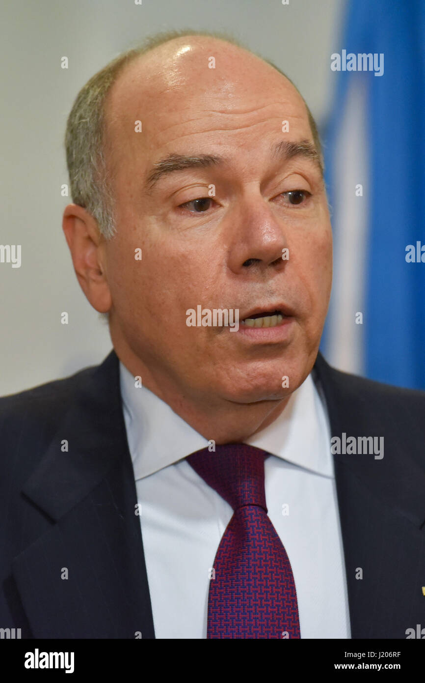
[[236, 510], [242, 505], [260, 505], [267, 512], [264, 490], [264, 461], [269, 454], [245, 443], [203, 448], [186, 460], [194, 471]]

